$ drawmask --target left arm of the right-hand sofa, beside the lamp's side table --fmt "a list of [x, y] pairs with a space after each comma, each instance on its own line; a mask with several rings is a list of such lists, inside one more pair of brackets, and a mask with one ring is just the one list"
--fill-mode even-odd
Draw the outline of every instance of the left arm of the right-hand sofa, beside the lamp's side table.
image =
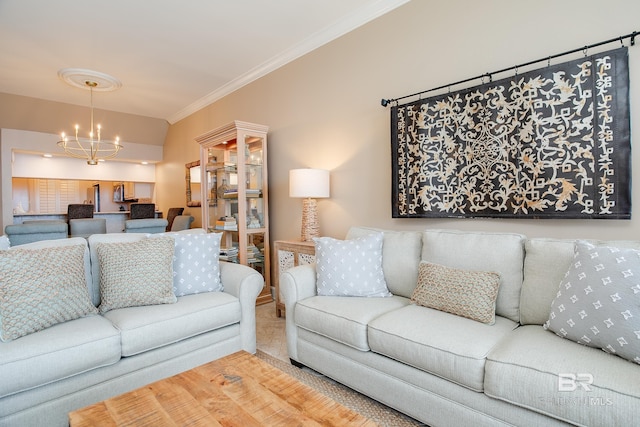
[[287, 351], [289, 358], [298, 360], [298, 330], [295, 324], [296, 303], [316, 295], [316, 265], [293, 267], [280, 276], [280, 289], [286, 312]]

